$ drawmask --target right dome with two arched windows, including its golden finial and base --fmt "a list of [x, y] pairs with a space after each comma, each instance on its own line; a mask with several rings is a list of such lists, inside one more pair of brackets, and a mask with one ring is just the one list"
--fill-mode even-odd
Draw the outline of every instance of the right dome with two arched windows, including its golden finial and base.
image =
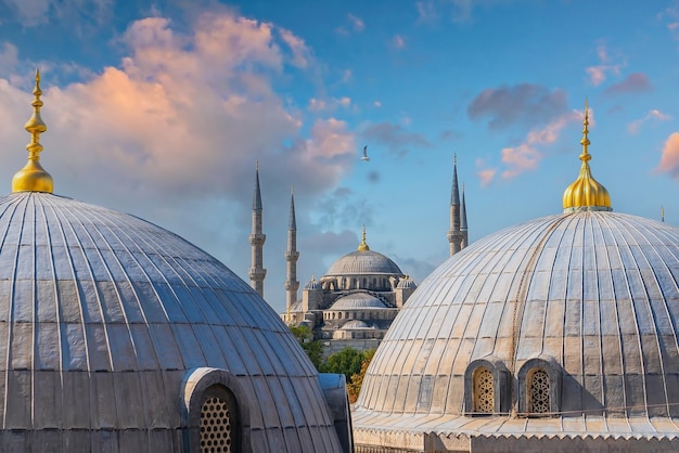
[[477, 241], [397, 315], [358, 452], [677, 450], [679, 229], [612, 211], [587, 125], [564, 212]]

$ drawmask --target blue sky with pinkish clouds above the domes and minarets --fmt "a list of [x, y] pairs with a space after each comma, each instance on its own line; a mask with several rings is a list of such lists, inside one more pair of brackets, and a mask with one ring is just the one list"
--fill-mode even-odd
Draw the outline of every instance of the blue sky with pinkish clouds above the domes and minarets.
[[55, 193], [175, 231], [245, 279], [258, 158], [277, 311], [291, 186], [300, 286], [363, 224], [420, 283], [447, 258], [453, 153], [470, 241], [560, 212], [586, 98], [614, 210], [679, 223], [677, 1], [0, 0], [0, 17], [5, 192], [36, 66]]

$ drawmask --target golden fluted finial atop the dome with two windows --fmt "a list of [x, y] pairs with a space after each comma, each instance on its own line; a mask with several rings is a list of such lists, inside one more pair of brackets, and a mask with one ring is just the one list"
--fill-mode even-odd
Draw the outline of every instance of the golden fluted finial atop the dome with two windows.
[[585, 101], [585, 120], [582, 121], [582, 154], [580, 154], [580, 173], [578, 178], [566, 187], [563, 194], [564, 212], [573, 212], [578, 210], [605, 210], [611, 209], [611, 196], [608, 191], [599, 183], [591, 173], [589, 160], [592, 156], [589, 154], [588, 146], [590, 144], [589, 134], [589, 107], [587, 100]]

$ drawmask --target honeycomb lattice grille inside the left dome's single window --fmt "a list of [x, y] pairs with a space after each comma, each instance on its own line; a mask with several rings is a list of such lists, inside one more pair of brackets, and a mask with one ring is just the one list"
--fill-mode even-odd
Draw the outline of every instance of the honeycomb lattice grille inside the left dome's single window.
[[229, 404], [210, 397], [201, 407], [201, 453], [233, 452], [232, 419]]

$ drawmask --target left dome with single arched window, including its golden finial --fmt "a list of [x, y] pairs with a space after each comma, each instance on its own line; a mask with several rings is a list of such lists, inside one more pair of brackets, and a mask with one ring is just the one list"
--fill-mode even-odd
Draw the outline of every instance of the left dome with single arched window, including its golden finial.
[[1, 450], [344, 451], [326, 387], [249, 286], [176, 234], [51, 193], [38, 82], [30, 160], [0, 198]]

